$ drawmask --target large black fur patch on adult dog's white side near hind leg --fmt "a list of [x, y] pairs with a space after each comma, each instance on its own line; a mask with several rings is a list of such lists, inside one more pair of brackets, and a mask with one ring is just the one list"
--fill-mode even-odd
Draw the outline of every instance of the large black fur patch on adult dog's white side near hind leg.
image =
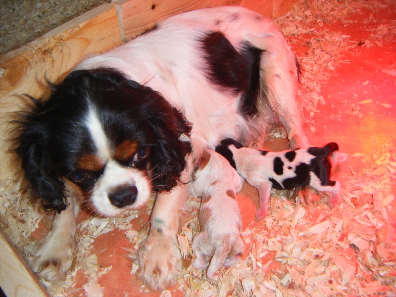
[[248, 116], [257, 114], [262, 50], [244, 44], [238, 52], [221, 32], [208, 33], [200, 42], [205, 52], [205, 71], [210, 82], [235, 95], [243, 93], [239, 112]]

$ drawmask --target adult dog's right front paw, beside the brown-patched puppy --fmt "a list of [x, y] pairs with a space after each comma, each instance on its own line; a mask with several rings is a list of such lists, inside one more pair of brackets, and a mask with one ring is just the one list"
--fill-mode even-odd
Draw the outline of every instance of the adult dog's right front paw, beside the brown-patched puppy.
[[139, 251], [138, 276], [150, 290], [165, 290], [176, 284], [180, 259], [180, 250], [172, 239], [153, 230]]

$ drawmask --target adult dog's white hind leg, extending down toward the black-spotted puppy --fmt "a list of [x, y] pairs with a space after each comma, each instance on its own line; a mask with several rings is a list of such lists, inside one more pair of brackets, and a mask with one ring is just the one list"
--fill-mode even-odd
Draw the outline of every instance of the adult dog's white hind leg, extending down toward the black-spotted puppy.
[[[247, 34], [246, 41], [263, 50], [260, 62], [261, 100], [266, 100], [282, 122], [290, 147], [308, 147], [298, 102], [299, 69], [295, 54], [280, 31], [274, 30], [263, 36]], [[258, 107], [260, 109], [260, 105]]]

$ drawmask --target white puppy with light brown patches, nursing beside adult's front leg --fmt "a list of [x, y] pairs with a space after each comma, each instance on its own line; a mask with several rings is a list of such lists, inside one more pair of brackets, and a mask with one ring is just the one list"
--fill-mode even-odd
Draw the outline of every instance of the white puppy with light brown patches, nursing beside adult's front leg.
[[[220, 182], [224, 179], [228, 182]], [[201, 230], [194, 237], [192, 247], [197, 256], [193, 262], [195, 269], [205, 269], [208, 264], [204, 256], [212, 256], [206, 271], [208, 279], [215, 279], [221, 266], [229, 267], [242, 258], [242, 216], [236, 196], [242, 185], [241, 177], [223, 156], [214, 150], [202, 154], [190, 186], [192, 195], [202, 197]]]

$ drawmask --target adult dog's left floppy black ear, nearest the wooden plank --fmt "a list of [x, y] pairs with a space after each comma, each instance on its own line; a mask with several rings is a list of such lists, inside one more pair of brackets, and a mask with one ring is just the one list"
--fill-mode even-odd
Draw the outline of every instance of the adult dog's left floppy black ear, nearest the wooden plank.
[[45, 207], [60, 212], [67, 206], [65, 187], [50, 154], [46, 111], [38, 100], [32, 100], [35, 107], [30, 112], [21, 113], [21, 119], [17, 121], [21, 132], [16, 152], [33, 189], [46, 201]]

